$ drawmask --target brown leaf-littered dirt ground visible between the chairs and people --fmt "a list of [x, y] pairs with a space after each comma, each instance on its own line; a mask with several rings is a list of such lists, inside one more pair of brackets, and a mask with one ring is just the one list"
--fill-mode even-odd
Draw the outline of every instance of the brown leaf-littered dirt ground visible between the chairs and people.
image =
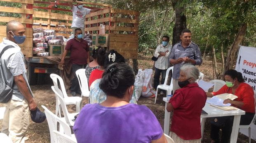
[[[151, 60], [151, 57], [145, 57], [140, 55], [139, 56], [139, 68], [145, 69], [145, 68], [152, 68], [153, 67], [153, 61]], [[221, 66], [220, 66], [221, 67]], [[209, 81], [213, 79], [213, 72], [212, 72], [212, 66], [211, 61], [204, 61], [202, 66], [198, 66], [200, 71], [204, 73], [204, 80]], [[51, 83], [51, 82], [50, 82]], [[47, 85], [36, 85], [31, 86], [31, 89], [33, 91], [33, 94], [35, 95], [35, 100], [38, 104], [38, 107], [41, 111], [43, 111], [41, 105], [45, 105], [50, 111], [55, 113], [55, 106], [56, 106], [56, 99], [53, 91], [51, 90], [52, 84]], [[70, 93], [69, 93], [70, 94]], [[164, 126], [164, 106], [165, 103], [162, 101], [162, 98], [164, 96], [157, 96], [157, 102], [154, 104], [155, 98], [140, 98], [138, 101], [138, 104], [146, 105], [148, 108], [153, 111], [155, 116], [157, 117], [158, 121], [160, 122], [162, 128]], [[88, 98], [83, 97], [83, 105], [88, 104]], [[0, 104], [0, 107], [2, 105]], [[70, 112], [75, 111], [75, 105], [68, 105], [68, 109]], [[0, 126], [1, 126], [0, 122]], [[33, 123], [30, 121], [30, 127], [29, 131], [27, 133], [27, 137], [29, 138], [26, 143], [50, 143], [50, 134], [49, 134], [49, 128], [47, 124], [47, 120], [45, 120], [43, 123]], [[204, 138], [202, 143], [210, 143], [210, 123], [209, 120], [207, 120], [204, 128]], [[243, 134], [238, 135], [238, 141], [237, 143], [247, 143], [248, 137], [244, 136]], [[251, 143], [256, 143], [256, 141], [251, 141]]]

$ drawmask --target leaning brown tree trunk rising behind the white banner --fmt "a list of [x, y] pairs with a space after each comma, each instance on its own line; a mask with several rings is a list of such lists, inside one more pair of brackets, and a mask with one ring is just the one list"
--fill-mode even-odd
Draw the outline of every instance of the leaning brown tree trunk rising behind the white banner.
[[244, 23], [240, 26], [237, 36], [236, 36], [233, 44], [230, 46], [230, 48], [228, 50], [227, 59], [226, 59], [225, 68], [224, 68], [223, 73], [225, 73], [229, 69], [234, 68], [235, 60], [237, 58], [237, 51], [239, 49], [239, 45], [244, 40], [244, 35], [246, 33], [246, 30], [247, 30], [247, 23]]

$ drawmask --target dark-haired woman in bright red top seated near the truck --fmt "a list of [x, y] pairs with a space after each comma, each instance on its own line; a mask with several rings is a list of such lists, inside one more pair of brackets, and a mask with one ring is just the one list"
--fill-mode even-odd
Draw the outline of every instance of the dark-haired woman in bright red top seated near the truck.
[[106, 59], [106, 50], [105, 48], [97, 48], [95, 50], [97, 63], [99, 64], [99, 68], [96, 68], [92, 71], [91, 75], [89, 76], [89, 87], [91, 86], [92, 82], [94, 82], [96, 79], [100, 79], [102, 77], [102, 74], [104, 72], [104, 63]]

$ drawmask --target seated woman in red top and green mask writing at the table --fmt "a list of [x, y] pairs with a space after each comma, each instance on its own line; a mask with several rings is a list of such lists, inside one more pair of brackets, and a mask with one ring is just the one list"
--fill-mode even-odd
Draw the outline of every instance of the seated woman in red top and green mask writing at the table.
[[[236, 95], [238, 98], [235, 100], [226, 99], [223, 103], [230, 103], [232, 106], [244, 110], [245, 115], [241, 116], [240, 125], [249, 125], [255, 114], [254, 91], [249, 84], [244, 83], [242, 73], [237, 72], [236, 70], [227, 70], [224, 75], [226, 85], [224, 85], [217, 92], [207, 92], [206, 94], [208, 97], [223, 93], [231, 93]], [[228, 116], [228, 118], [223, 120], [221, 127], [211, 124], [211, 143], [229, 142], [232, 132], [233, 120], [234, 116], [230, 116], [230, 118]], [[218, 136], [220, 129], [222, 129], [221, 141], [219, 141]]]

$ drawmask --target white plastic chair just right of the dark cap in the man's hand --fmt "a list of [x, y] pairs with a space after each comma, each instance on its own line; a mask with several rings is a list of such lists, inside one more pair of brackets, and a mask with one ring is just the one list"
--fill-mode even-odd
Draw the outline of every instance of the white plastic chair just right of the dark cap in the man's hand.
[[71, 129], [64, 118], [59, 118], [43, 105], [41, 107], [45, 110], [45, 116], [47, 118], [47, 123], [50, 131], [51, 143], [58, 143], [57, 137], [52, 132], [54, 130], [63, 131], [63, 133], [66, 134], [67, 136], [75, 137], [74, 134], [71, 134]]

